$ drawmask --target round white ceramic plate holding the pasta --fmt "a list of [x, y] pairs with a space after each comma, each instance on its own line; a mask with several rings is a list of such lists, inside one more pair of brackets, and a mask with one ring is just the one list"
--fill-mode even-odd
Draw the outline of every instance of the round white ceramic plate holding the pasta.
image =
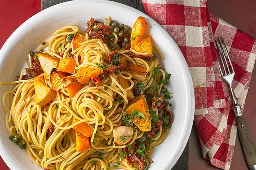
[[[104, 21], [111, 16], [113, 20], [133, 26], [138, 16], [146, 17], [149, 34], [154, 44], [162, 51], [163, 65], [172, 73], [169, 90], [173, 92], [172, 112], [175, 115], [172, 128], [166, 140], [156, 147], [154, 163], [150, 170], [171, 169], [180, 157], [189, 139], [194, 117], [194, 91], [186, 61], [170, 35], [153, 19], [144, 13], [105, 0], [77, 0], [61, 3], [47, 8], [29, 18], [9, 37], [0, 50], [0, 82], [13, 81], [26, 66], [25, 51], [36, 50], [40, 42], [49, 40], [53, 32], [63, 26], [76, 25], [85, 30], [90, 17]], [[0, 96], [12, 86], [0, 86]], [[22, 150], [8, 139], [9, 131], [5, 123], [6, 111], [0, 102], [0, 154], [11, 170], [42, 170], [32, 161], [26, 150]]]

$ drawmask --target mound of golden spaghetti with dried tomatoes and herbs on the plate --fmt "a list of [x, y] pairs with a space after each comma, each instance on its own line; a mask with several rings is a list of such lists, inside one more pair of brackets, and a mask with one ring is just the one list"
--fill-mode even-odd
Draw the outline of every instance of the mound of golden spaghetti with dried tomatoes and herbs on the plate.
[[[109, 21], [111, 20], [108, 18], [107, 23], [110, 23]], [[121, 25], [121, 28], [124, 28], [123, 26]], [[75, 49], [72, 44], [75, 38], [73, 37], [72, 41], [67, 38], [79, 34], [84, 37], [84, 42], [79, 43], [79, 47]], [[121, 61], [112, 65], [109, 61], [111, 53], [113, 54], [111, 48], [122, 44], [125, 37], [122, 37], [120, 42], [119, 33], [112, 31], [109, 35], [113, 35], [112, 42], [109, 42], [111, 36], [106, 42], [102, 37], [93, 38], [91, 32], [87, 31], [82, 35], [78, 27], [67, 26], [55, 31], [49, 42], [38, 49], [40, 51], [48, 47], [48, 51], [35, 54], [44, 54], [60, 60], [74, 57], [75, 71], [74, 74], [66, 74], [68, 77], [77, 77], [81, 68], [102, 68], [104, 73], [96, 76], [100, 84], [93, 85], [90, 78], [89, 84], [82, 83], [82, 88], [74, 96], [70, 96], [67, 85], [61, 83], [60, 89], [52, 99], [45, 105], [39, 105], [36, 102], [34, 85], [38, 82], [38, 77], [23, 80], [22, 71], [19, 80], [0, 82], [2, 85], [15, 84], [12, 91], [3, 95], [3, 105], [7, 111], [6, 126], [11, 136], [19, 138], [20, 142], [23, 141], [29, 156], [47, 170], [146, 170], [153, 162], [150, 156], [154, 147], [163, 142], [169, 132], [172, 114], [168, 111], [166, 99], [169, 99], [170, 93], [164, 85], [168, 84], [170, 74], [164, 72], [155, 57], [145, 59], [131, 55], [130, 50], [125, 48], [125, 45], [129, 45], [128, 42], [123, 48], [117, 49], [115, 54], [119, 54], [119, 57], [130, 65], [145, 70], [143, 81], [134, 80], [134, 75], [127, 71], [128, 68], [123, 70], [123, 66], [120, 67]], [[109, 68], [115, 69], [109, 72]], [[47, 78], [46, 74], [45, 70], [40, 74], [43, 76], [41, 82], [53, 89], [51, 78]], [[104, 74], [105, 76], [102, 76]], [[120, 79], [127, 81], [128, 86], [124, 87]], [[77, 83], [81, 84], [80, 81]], [[136, 114], [140, 115], [137, 116], [140, 121], [145, 118], [141, 115], [142, 112], [136, 110], [137, 113], [127, 114], [131, 105], [129, 91], [137, 96], [134, 100], [140, 99], [140, 96], [145, 96], [147, 102], [152, 99], [147, 106], [150, 108], [150, 131], [141, 130], [137, 125], [139, 122], [134, 122], [132, 116]], [[77, 121], [73, 122], [73, 119]], [[75, 127], [82, 123], [93, 128], [93, 135], [89, 137], [90, 149], [87, 151], [78, 151], [76, 146], [78, 139]], [[131, 136], [120, 136], [119, 139], [125, 144], [119, 144], [113, 131], [116, 127], [125, 128], [125, 125], [132, 127], [133, 132]], [[12, 137], [11, 140], [14, 141], [13, 139]]]

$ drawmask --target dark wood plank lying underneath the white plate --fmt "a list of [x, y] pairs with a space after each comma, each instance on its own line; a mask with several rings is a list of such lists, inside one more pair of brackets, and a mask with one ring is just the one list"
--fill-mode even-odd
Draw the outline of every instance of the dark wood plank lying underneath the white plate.
[[[42, 0], [42, 10], [50, 6], [56, 5], [58, 3], [63, 3], [67, 1], [69, 0]], [[145, 9], [143, 7], [141, 0], [112, 0], [112, 1], [123, 3], [125, 5], [136, 8], [145, 13]], [[189, 160], [189, 144], [187, 143], [182, 155], [180, 156], [180, 159], [177, 161], [177, 163], [172, 168], [172, 170], [188, 170], [189, 169], [188, 160]]]

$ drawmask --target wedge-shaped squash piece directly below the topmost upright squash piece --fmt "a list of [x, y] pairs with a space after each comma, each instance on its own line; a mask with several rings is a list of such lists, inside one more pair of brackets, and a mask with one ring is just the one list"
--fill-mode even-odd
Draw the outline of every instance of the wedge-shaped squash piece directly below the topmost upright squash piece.
[[153, 56], [153, 45], [151, 37], [148, 35], [144, 40], [131, 47], [131, 52], [140, 58]]

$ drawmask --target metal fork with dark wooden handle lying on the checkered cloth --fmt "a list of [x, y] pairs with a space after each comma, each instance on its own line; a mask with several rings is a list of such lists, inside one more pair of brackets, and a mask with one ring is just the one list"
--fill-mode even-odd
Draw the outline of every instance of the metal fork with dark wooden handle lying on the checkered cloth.
[[[218, 38], [218, 43], [214, 39], [215, 45], [218, 50], [218, 66], [221, 72], [221, 78], [224, 82], [227, 83], [230, 89], [231, 96], [233, 98], [233, 111], [236, 115], [236, 126], [238, 130], [239, 140], [241, 148], [244, 153], [244, 157], [247, 163], [247, 166], [250, 170], [256, 170], [256, 149], [254, 147], [253, 141], [250, 136], [250, 132], [244, 120], [244, 117], [241, 112], [241, 105], [237, 102], [236, 94], [232, 88], [232, 81], [235, 76], [235, 71], [230, 60], [230, 55], [228, 54], [227, 46], [223, 38], [221, 40]], [[221, 43], [222, 42], [222, 43]]]

